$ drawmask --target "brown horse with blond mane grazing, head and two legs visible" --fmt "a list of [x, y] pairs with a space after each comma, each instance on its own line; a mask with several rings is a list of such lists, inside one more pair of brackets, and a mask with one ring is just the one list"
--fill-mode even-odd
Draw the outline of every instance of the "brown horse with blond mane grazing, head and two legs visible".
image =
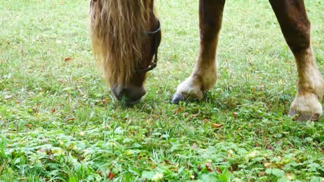
[[[269, 0], [298, 68], [298, 92], [290, 106], [297, 120], [316, 121], [323, 113], [324, 81], [310, 44], [303, 0]], [[200, 50], [195, 68], [177, 88], [172, 103], [203, 99], [216, 82], [215, 54], [225, 0], [199, 1]], [[143, 97], [145, 74], [156, 66], [161, 40], [154, 0], [91, 0], [93, 50], [118, 100], [134, 104]], [[153, 61], [152, 58], [154, 57]]]

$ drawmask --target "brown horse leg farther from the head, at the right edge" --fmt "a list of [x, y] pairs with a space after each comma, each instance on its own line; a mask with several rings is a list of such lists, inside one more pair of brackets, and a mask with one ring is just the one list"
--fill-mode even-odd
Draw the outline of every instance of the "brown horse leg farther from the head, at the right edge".
[[297, 63], [298, 92], [290, 105], [289, 115], [298, 114], [298, 121], [316, 121], [323, 114], [324, 81], [310, 44], [310, 23], [304, 1], [269, 1]]

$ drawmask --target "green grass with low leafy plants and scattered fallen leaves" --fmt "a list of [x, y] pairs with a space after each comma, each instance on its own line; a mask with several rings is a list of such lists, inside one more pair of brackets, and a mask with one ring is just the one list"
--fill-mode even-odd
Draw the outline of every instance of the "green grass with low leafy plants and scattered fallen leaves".
[[[296, 65], [266, 1], [228, 1], [217, 85], [180, 105], [170, 99], [197, 57], [198, 2], [156, 1], [159, 65], [133, 108], [100, 77], [88, 1], [0, 1], [0, 181], [324, 180], [323, 121], [286, 116]], [[323, 74], [323, 2], [305, 3]]]

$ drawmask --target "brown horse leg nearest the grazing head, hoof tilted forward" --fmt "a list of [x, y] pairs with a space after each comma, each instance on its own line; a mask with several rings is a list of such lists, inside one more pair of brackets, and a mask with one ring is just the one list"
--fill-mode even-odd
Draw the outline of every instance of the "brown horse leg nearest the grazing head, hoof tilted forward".
[[204, 91], [216, 83], [216, 61], [218, 34], [222, 26], [225, 0], [199, 1], [200, 50], [195, 68], [185, 81], [180, 83], [172, 103], [183, 99], [203, 99]]

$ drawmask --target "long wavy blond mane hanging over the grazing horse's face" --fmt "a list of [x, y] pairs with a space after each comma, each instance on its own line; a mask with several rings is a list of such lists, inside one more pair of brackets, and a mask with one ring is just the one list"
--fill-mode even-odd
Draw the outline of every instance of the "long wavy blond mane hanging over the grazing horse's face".
[[145, 22], [152, 0], [91, 0], [93, 54], [110, 85], [128, 83], [140, 65]]

